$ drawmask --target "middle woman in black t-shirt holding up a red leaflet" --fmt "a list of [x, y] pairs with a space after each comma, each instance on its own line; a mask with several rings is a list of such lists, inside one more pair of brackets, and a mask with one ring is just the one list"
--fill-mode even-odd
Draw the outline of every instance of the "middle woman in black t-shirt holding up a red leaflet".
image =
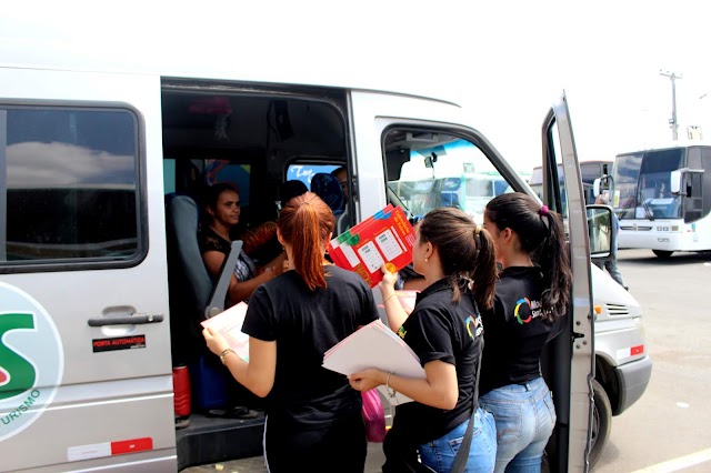
[[397, 409], [383, 444], [383, 472], [449, 472], [459, 449], [452, 445], [462, 442], [472, 421], [467, 471], [490, 472], [495, 457], [494, 423], [491, 414], [479, 409], [477, 383], [483, 345], [478, 308], [489, 309], [493, 300], [493, 241], [453, 208], [429, 212], [415, 233], [413, 268], [424, 276], [427, 289], [418, 295], [412, 313], [408, 316], [395, 296], [395, 274], [383, 269], [380, 290], [390, 328], [419, 356], [427, 378], [369, 369], [349, 379], [360, 391], [384, 384], [414, 400]]

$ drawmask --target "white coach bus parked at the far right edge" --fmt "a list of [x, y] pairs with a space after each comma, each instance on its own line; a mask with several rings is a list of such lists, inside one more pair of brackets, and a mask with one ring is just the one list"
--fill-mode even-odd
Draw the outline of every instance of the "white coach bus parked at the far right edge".
[[674, 143], [618, 154], [613, 207], [620, 248], [711, 250], [711, 145]]

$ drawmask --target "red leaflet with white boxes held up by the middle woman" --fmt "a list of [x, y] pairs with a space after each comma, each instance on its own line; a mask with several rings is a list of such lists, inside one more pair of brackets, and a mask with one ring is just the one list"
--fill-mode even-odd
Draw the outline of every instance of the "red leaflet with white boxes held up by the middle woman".
[[380, 268], [401, 270], [412, 261], [414, 230], [399, 207], [388, 204], [329, 243], [336, 265], [356, 271], [373, 288], [382, 280]]

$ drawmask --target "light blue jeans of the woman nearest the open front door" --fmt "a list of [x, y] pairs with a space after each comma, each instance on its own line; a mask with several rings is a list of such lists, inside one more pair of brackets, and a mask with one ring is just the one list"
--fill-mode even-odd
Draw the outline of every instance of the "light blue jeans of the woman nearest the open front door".
[[497, 422], [497, 472], [538, 473], [553, 433], [555, 407], [543, 378], [502, 386], [479, 397]]

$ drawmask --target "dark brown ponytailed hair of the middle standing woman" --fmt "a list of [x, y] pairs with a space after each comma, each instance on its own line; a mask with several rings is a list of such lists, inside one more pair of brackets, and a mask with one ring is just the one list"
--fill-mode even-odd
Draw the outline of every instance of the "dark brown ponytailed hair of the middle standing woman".
[[463, 211], [442, 207], [430, 211], [419, 224], [420, 242], [437, 248], [442, 271], [454, 289], [453, 301], [461, 299], [462, 279], [473, 281], [474, 301], [481, 309], [493, 305], [497, 282], [494, 243], [489, 232]]

